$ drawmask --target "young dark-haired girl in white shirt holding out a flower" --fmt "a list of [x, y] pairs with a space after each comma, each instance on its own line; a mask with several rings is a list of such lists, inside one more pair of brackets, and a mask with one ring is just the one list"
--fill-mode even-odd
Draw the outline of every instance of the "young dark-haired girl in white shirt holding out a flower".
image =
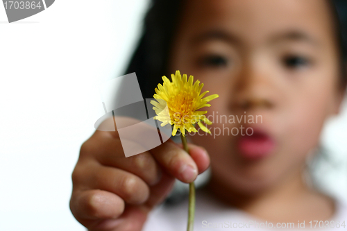
[[117, 132], [96, 131], [72, 174], [76, 219], [89, 230], [185, 230], [187, 201], [156, 205], [175, 178], [192, 182], [210, 166], [195, 230], [346, 229], [346, 205], [303, 177], [346, 87], [335, 3], [153, 1], [127, 73], [137, 73], [144, 98], [176, 70], [200, 80], [219, 94], [208, 108], [212, 135], [191, 135], [190, 155], [169, 140], [126, 158]]

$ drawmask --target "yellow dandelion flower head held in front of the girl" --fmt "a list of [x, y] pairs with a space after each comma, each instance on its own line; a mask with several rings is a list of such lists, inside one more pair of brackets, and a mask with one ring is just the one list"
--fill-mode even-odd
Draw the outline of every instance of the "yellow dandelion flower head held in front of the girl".
[[[157, 114], [154, 119], [161, 121], [161, 126], [165, 126], [168, 123], [174, 126], [172, 135], [176, 135], [177, 130], [185, 135], [185, 130], [188, 132], [197, 132], [194, 128], [194, 124], [198, 123], [198, 126], [204, 132], [211, 134], [210, 130], [206, 128], [203, 123], [208, 125], [212, 124], [208, 118], [205, 117], [207, 111], [198, 111], [200, 108], [210, 107], [208, 104], [212, 99], [219, 97], [217, 94], [211, 96], [205, 96], [209, 91], [201, 93], [203, 83], [200, 84], [199, 80], [193, 84], [194, 77], [184, 74], [180, 75], [180, 71], [176, 71], [176, 74], [171, 74], [172, 82], [166, 77], [162, 76], [164, 83], [158, 84], [158, 88], [155, 88], [153, 95], [157, 101], [151, 101], [154, 105], [153, 110]], [[166, 108], [169, 112], [164, 113]]]

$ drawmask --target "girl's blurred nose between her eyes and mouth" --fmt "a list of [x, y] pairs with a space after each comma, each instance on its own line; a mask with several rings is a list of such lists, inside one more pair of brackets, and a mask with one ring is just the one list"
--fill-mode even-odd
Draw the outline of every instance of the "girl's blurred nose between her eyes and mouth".
[[275, 107], [273, 78], [264, 66], [245, 66], [239, 72], [234, 86], [232, 107], [235, 110], [270, 110]]

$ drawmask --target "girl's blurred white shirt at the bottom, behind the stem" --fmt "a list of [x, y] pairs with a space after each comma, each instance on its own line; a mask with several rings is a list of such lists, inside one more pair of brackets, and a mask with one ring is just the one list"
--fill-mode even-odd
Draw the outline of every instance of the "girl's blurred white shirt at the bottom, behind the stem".
[[[336, 201], [335, 215], [328, 221], [330, 228], [324, 228], [325, 221], [312, 223], [269, 223], [239, 209], [223, 205], [218, 200], [208, 197], [203, 191], [196, 191], [196, 211], [194, 231], [201, 230], [347, 230], [347, 205]], [[171, 207], [160, 205], [149, 214], [144, 231], [185, 231], [187, 230], [188, 199]], [[298, 228], [298, 226], [301, 228]], [[342, 225], [342, 226], [341, 226]], [[344, 226], [345, 225], [345, 226]], [[272, 226], [272, 228], [271, 228]], [[277, 226], [277, 227], [276, 227]], [[291, 227], [290, 227], [291, 226]], [[321, 228], [319, 227], [321, 226]], [[334, 227], [334, 228], [332, 228]]]

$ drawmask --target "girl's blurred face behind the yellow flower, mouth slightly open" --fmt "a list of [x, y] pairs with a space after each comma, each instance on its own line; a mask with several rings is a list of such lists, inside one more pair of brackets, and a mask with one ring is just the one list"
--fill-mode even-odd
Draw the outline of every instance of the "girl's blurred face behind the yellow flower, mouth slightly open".
[[[219, 94], [208, 108], [212, 135], [191, 137], [208, 149], [214, 180], [252, 193], [297, 173], [341, 102], [328, 3], [192, 0], [181, 19], [171, 73], [193, 75]], [[242, 136], [241, 126], [257, 136]]]

